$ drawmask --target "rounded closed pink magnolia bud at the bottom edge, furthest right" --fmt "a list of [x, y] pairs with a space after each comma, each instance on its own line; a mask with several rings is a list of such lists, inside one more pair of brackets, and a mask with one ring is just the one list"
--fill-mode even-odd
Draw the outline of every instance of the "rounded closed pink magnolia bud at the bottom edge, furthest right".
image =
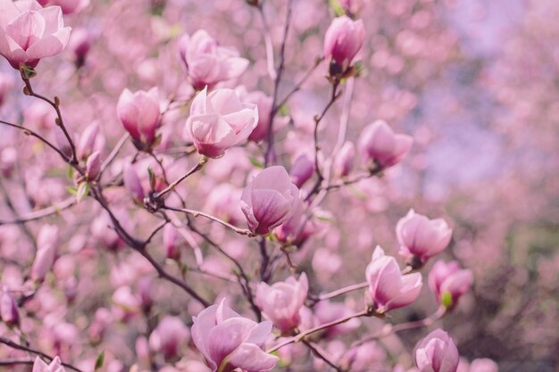
[[456, 372], [460, 356], [453, 339], [436, 329], [417, 344], [415, 365], [420, 372]]

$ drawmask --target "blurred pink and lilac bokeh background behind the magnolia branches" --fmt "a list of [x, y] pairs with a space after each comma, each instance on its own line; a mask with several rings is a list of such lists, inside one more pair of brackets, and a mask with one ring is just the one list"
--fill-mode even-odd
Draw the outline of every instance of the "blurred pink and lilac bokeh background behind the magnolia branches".
[[[274, 45], [281, 42], [285, 5], [286, 1], [264, 2]], [[322, 205], [328, 233], [313, 237], [294, 260], [313, 278], [315, 291], [354, 284], [363, 280], [374, 245], [396, 254], [394, 226], [410, 208], [442, 216], [455, 231], [445, 258], [459, 260], [475, 274], [471, 293], [439, 323], [455, 337], [461, 355], [468, 360], [496, 360], [503, 372], [559, 370], [559, 2], [363, 0], [355, 6], [366, 29], [360, 57], [364, 76], [355, 79], [347, 138], [356, 141], [365, 125], [383, 119], [396, 131], [412, 135], [415, 144], [411, 156], [384, 178], [330, 196]], [[331, 16], [322, 0], [294, 0], [281, 92], [288, 92], [321, 55]], [[115, 115], [124, 87], [158, 86], [167, 96], [191, 91], [176, 45], [183, 33], [206, 29], [221, 45], [235, 46], [250, 60], [246, 73], [225, 86], [244, 85], [271, 94], [262, 21], [241, 0], [92, 0], [88, 9], [65, 21], [91, 35], [87, 61], [76, 70], [67, 51], [41, 62], [34, 84], [61, 97], [75, 133], [94, 120], [102, 123], [106, 153], [124, 133]], [[52, 128], [48, 114], [21, 97], [21, 83], [7, 63], [2, 63], [2, 70], [0, 85], [7, 87], [3, 118], [22, 120], [48, 134]], [[322, 65], [288, 104], [283, 118], [287, 129], [278, 134], [283, 143], [279, 160], [287, 166], [296, 148], [313, 146], [309, 140], [313, 115], [329, 94], [324, 74]], [[180, 142], [186, 114], [169, 116], [161, 129], [163, 144]], [[341, 105], [334, 107], [322, 125], [326, 152], [335, 145], [341, 114]], [[0, 159], [5, 162], [13, 153], [6, 149], [17, 149], [20, 174], [15, 181], [1, 180], [0, 216], [13, 216], [8, 199], [24, 214], [68, 196], [60, 169], [53, 170], [54, 159], [43, 156], [37, 144], [30, 147], [29, 138], [17, 132], [0, 128], [0, 133], [4, 156]], [[250, 154], [257, 157], [259, 149], [231, 151], [219, 164], [210, 164], [206, 174], [211, 180], [189, 185], [196, 186], [196, 191], [186, 192], [192, 203], [207, 207], [204, 198], [221, 183], [242, 187]], [[131, 213], [138, 229], [148, 223], [141, 212], [123, 209]], [[53, 324], [45, 327], [48, 332], [67, 335], [54, 326], [61, 319], [75, 328], [72, 332], [85, 332], [91, 314], [102, 305], [110, 307], [115, 283], [129, 280], [115, 276], [127, 270], [137, 276], [141, 271], [141, 264], [130, 263], [134, 260], [94, 252], [102, 236], [90, 234], [88, 211], [87, 206], [78, 206], [49, 221], [72, 226], [63, 233], [62, 251], [82, 266], [74, 288], [76, 310], [62, 314], [46, 310]], [[31, 232], [41, 223], [31, 224]], [[4, 272], [17, 270], [21, 263], [11, 257], [32, 260], [28, 233], [17, 226], [0, 226]], [[218, 240], [229, 242], [231, 252], [246, 260], [251, 257], [235, 246], [240, 244], [237, 240], [218, 233]], [[208, 261], [230, 270], [229, 263], [218, 257], [208, 256]], [[95, 294], [90, 292], [92, 283], [81, 280], [85, 277], [95, 278]], [[52, 288], [42, 295], [64, 302], [57, 292], [60, 284], [50, 283]], [[170, 291], [159, 291], [162, 309], [181, 314], [189, 306], [188, 313], [196, 314], [195, 305], [170, 299]], [[395, 320], [424, 318], [435, 310], [432, 296], [425, 292], [413, 308], [395, 314]], [[351, 306], [361, 299], [360, 294], [349, 295], [346, 303]], [[45, 306], [41, 309], [45, 311]], [[33, 334], [38, 325], [29, 329]], [[126, 346], [134, 339], [129, 330], [115, 327], [112, 332], [113, 341], [107, 343], [128, 350], [121, 352], [123, 360], [134, 359], [134, 351]], [[410, 351], [421, 335], [424, 330], [409, 331], [399, 342]], [[67, 341], [62, 337], [59, 342]], [[75, 359], [87, 347], [74, 344], [66, 352]]]

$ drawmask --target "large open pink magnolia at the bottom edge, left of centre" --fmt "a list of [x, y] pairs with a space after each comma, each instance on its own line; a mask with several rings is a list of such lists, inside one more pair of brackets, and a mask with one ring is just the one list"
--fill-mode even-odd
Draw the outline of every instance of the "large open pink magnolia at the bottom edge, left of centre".
[[262, 350], [271, 333], [271, 321], [256, 323], [231, 310], [225, 300], [193, 318], [192, 340], [212, 371], [264, 372], [279, 358]]

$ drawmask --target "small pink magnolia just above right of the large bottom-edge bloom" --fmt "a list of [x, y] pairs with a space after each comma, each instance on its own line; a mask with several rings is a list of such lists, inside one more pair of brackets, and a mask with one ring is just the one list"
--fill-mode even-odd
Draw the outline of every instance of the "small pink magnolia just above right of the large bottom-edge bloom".
[[305, 303], [309, 291], [306, 274], [302, 273], [299, 280], [288, 277], [285, 282], [268, 285], [260, 283], [256, 288], [256, 305], [263, 310], [274, 326], [282, 333], [288, 333], [299, 325], [299, 310]]

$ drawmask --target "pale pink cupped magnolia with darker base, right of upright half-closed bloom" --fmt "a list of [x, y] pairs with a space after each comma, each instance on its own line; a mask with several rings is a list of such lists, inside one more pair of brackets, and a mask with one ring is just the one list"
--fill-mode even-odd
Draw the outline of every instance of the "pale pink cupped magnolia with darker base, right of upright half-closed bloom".
[[198, 153], [218, 158], [227, 148], [245, 141], [257, 123], [255, 104], [241, 103], [231, 89], [216, 89], [207, 95], [205, 87], [190, 106], [186, 130]]

